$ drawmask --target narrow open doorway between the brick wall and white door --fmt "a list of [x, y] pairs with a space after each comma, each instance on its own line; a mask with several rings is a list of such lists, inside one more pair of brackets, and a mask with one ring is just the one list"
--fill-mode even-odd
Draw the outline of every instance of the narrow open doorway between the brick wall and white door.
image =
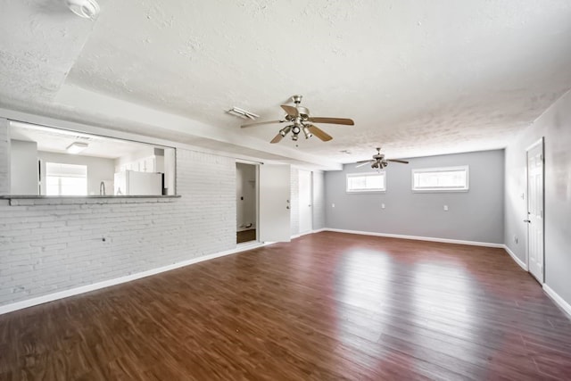
[[257, 242], [257, 166], [236, 162], [236, 244]]

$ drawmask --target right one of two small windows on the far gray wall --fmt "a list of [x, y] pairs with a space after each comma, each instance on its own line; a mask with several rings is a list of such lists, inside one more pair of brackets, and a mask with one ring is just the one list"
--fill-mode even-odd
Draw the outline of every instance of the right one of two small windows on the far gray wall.
[[468, 191], [468, 165], [412, 170], [412, 190], [417, 192]]

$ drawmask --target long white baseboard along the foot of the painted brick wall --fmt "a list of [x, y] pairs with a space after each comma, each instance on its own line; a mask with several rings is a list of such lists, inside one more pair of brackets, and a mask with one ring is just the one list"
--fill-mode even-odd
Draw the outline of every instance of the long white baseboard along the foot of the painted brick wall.
[[67, 298], [69, 296], [88, 293], [90, 291], [99, 290], [100, 288], [120, 285], [121, 283], [127, 283], [127, 282], [130, 282], [132, 280], [140, 279], [142, 277], [150, 277], [152, 275], [160, 274], [161, 272], [169, 271], [171, 269], [179, 269], [181, 267], [192, 265], [194, 263], [198, 263], [198, 262], [202, 262], [202, 261], [208, 261], [208, 260], [212, 260], [214, 258], [219, 258], [219, 257], [223, 257], [223, 256], [230, 255], [230, 254], [244, 252], [246, 250], [251, 250], [253, 248], [261, 247], [264, 245], [265, 244], [263, 244], [263, 243], [258, 243], [258, 244], [248, 244], [248, 245], [244, 245], [244, 246], [238, 246], [238, 247], [236, 247], [236, 249], [228, 250], [226, 252], [203, 255], [202, 257], [197, 257], [197, 258], [193, 258], [193, 259], [190, 259], [187, 261], [181, 261], [181, 262], [173, 263], [173, 264], [170, 264], [168, 266], [162, 266], [162, 267], [156, 268], [156, 269], [149, 269], [146, 271], [137, 272], [137, 274], [131, 274], [131, 275], [128, 275], [126, 277], [118, 277], [115, 279], [103, 280], [103, 282], [97, 282], [97, 283], [94, 283], [92, 285], [86, 285], [86, 286], [71, 288], [69, 290], [60, 291], [60, 292], [54, 293], [54, 294], [46, 294], [46, 295], [38, 296], [36, 298], [27, 299], [27, 300], [21, 301], [21, 302], [13, 302], [11, 304], [4, 304], [3, 306], [0, 306], [0, 315], [2, 315], [4, 313], [12, 312], [12, 311], [22, 310], [24, 308], [32, 307], [32, 306], [35, 306], [37, 304], [43, 304], [46, 302], [53, 302], [55, 300]]

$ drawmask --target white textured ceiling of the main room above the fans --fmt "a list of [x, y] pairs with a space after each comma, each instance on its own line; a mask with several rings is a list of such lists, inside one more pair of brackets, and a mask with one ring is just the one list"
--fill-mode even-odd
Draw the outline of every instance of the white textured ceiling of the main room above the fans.
[[[567, 0], [99, 4], [3, 4], [0, 106], [327, 168], [503, 147], [571, 88]], [[270, 145], [283, 126], [225, 112], [277, 120], [294, 94], [355, 126]]]

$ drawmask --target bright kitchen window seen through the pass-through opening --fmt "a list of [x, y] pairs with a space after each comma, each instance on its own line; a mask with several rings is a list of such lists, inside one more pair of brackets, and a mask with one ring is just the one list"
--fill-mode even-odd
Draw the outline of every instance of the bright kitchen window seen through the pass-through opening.
[[87, 195], [87, 165], [46, 162], [46, 195]]

